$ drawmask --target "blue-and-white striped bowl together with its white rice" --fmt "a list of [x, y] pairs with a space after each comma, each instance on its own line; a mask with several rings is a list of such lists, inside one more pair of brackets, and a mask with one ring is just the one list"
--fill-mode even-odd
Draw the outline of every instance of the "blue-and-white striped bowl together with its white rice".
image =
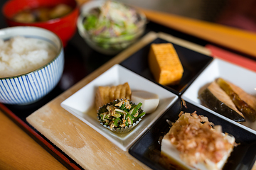
[[27, 105], [50, 93], [64, 69], [63, 44], [44, 28], [0, 29], [0, 103]]

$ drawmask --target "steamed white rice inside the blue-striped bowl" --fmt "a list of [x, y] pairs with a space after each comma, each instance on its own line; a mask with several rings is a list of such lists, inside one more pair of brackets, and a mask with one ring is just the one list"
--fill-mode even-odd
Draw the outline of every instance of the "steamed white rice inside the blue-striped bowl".
[[53, 60], [56, 52], [50, 43], [17, 36], [0, 39], [0, 77], [13, 77], [32, 72]]

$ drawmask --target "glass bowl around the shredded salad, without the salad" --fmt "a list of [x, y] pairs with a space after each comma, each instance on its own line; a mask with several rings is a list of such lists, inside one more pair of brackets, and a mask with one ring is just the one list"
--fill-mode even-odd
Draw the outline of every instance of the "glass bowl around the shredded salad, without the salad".
[[[81, 35], [82, 38], [84, 38], [85, 42], [87, 42], [87, 45], [90, 45], [90, 47], [92, 47], [92, 49], [101, 52], [105, 55], [115, 55], [118, 52], [129, 47], [129, 45], [132, 45], [134, 42], [137, 41], [138, 38], [141, 37], [146, 28], [146, 17], [144, 13], [137, 10], [137, 29], [132, 33], [127, 33], [116, 37], [108, 37], [106, 35], [92, 35], [90, 31], [87, 31], [85, 29], [84, 21], [86, 20], [87, 16], [91, 13], [91, 10], [93, 8], [98, 8], [102, 6], [104, 3], [104, 0], [95, 0], [87, 2], [80, 7], [81, 14], [78, 17], [77, 22], [78, 33]], [[132, 7], [129, 6], [129, 8]], [[122, 14], [120, 15], [122, 16]]]

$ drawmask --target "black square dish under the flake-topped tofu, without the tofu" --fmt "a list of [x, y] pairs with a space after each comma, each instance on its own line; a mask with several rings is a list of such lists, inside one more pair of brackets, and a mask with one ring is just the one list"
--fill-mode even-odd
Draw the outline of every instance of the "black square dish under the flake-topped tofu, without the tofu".
[[151, 169], [165, 168], [159, 164], [159, 155], [161, 151], [160, 140], [166, 132], [169, 132], [169, 124], [166, 120], [175, 122], [178, 119], [180, 111], [193, 113], [196, 111], [198, 115], [205, 115], [214, 125], [221, 125], [223, 132], [228, 132], [235, 137], [238, 145], [233, 149], [228, 162], [223, 169], [252, 169], [256, 159], [256, 135], [244, 130], [233, 123], [230, 123], [216, 115], [204, 111], [191, 103], [186, 102], [187, 108], [181, 107], [181, 99], [169, 108], [154, 125], [129, 149], [129, 154], [139, 159]]

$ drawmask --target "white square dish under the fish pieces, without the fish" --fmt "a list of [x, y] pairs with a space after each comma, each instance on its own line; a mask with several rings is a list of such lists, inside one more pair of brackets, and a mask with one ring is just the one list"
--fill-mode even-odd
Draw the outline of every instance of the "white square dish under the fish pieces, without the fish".
[[222, 77], [230, 81], [231, 83], [239, 86], [243, 89], [247, 94], [252, 96], [256, 96], [256, 73], [252, 72], [248, 69], [239, 67], [235, 64], [231, 64], [230, 62], [225, 62], [224, 60], [220, 60], [215, 58], [213, 62], [211, 62], [208, 67], [198, 76], [198, 78], [193, 81], [191, 86], [185, 91], [185, 93], [181, 96], [185, 101], [193, 103], [194, 105], [209, 111], [215, 115], [218, 115], [225, 120], [228, 120], [235, 125], [238, 125], [250, 132], [256, 134], [256, 122], [255, 123], [235, 123], [235, 121], [225, 118], [225, 116], [216, 113], [215, 111], [210, 110], [206, 106], [203, 106], [199, 96], [199, 91], [206, 88], [208, 84], [214, 81], [217, 78]]

